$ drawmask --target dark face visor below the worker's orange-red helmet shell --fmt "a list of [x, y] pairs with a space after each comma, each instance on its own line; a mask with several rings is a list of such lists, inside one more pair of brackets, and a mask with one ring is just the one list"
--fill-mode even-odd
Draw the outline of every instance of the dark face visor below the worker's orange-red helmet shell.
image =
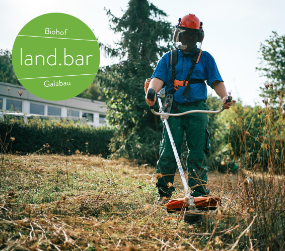
[[202, 32], [200, 30], [194, 30], [189, 28], [177, 27], [173, 42], [174, 47], [182, 51], [194, 51], [196, 48], [201, 48], [202, 46]]

